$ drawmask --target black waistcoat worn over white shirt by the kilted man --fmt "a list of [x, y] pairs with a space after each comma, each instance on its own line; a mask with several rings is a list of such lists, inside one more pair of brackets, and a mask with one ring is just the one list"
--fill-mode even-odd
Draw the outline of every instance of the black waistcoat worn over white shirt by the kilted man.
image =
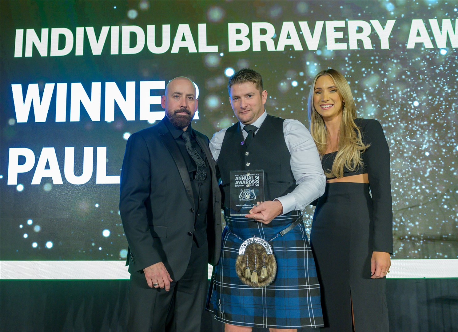
[[264, 169], [264, 200], [272, 201], [296, 187], [291, 171], [291, 155], [283, 134], [283, 121], [267, 115], [249, 147], [244, 141], [240, 124], [229, 127], [224, 135], [218, 168], [223, 184], [223, 202], [229, 207], [230, 172], [244, 169]]

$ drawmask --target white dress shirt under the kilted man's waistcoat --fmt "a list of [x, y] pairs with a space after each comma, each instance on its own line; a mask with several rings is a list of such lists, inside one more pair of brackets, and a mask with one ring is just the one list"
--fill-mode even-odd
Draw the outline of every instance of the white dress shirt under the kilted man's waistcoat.
[[[264, 113], [251, 124], [258, 128], [255, 134], [266, 117], [267, 112], [264, 110]], [[243, 137], [246, 138], [248, 133], [243, 130], [244, 127], [245, 125], [240, 122]], [[218, 161], [226, 129], [218, 131], [210, 141], [210, 151], [216, 162]], [[302, 123], [298, 120], [285, 119], [283, 122], [283, 135], [288, 151], [291, 154], [291, 171], [297, 185], [289, 194], [275, 198], [282, 203], [282, 214], [285, 214], [293, 210], [302, 210], [312, 201], [322, 196], [326, 186], [326, 176], [323, 173], [315, 142]]]

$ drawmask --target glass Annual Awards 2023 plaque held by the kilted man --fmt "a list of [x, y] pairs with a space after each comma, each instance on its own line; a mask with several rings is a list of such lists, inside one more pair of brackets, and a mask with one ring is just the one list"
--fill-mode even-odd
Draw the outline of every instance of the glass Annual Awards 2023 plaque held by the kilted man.
[[258, 201], [264, 201], [264, 170], [230, 172], [231, 215], [245, 216]]

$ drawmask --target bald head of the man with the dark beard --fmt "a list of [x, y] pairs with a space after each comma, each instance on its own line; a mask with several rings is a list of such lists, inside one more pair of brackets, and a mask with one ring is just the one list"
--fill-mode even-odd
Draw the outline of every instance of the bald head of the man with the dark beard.
[[197, 109], [194, 83], [185, 76], [175, 77], [165, 87], [161, 105], [170, 123], [185, 131]]

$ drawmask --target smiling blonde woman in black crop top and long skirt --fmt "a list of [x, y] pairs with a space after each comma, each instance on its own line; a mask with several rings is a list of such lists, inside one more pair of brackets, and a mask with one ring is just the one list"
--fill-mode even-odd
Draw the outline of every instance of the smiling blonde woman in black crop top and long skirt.
[[327, 176], [311, 230], [324, 330], [388, 331], [385, 277], [393, 252], [393, 212], [382, 126], [356, 118], [349, 84], [333, 69], [316, 75], [308, 118]]

